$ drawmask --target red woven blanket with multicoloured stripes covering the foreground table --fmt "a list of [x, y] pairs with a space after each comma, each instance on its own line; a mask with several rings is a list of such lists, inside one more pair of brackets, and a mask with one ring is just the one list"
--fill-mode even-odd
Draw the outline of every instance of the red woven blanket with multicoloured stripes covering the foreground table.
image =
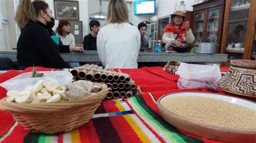
[[[49, 70], [37, 68], [37, 70]], [[31, 71], [31, 68], [23, 72]], [[139, 85], [137, 95], [129, 99], [107, 99], [92, 119], [71, 132], [43, 134], [25, 130], [9, 112], [0, 111], [0, 142], [217, 142], [197, 137], [167, 123], [157, 108], [157, 99], [178, 90], [178, 76], [163, 67], [122, 69]], [[21, 74], [12, 70], [0, 75], [0, 83]], [[203, 89], [201, 91], [207, 91]], [[0, 99], [6, 90], [0, 88]]]

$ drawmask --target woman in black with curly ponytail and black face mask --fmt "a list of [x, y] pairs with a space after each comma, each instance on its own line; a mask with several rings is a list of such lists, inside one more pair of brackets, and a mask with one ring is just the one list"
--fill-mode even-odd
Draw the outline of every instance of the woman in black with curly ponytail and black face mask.
[[41, 66], [47, 68], [67, 68], [61, 53], [83, 52], [73, 46], [59, 47], [51, 38], [51, 28], [55, 19], [49, 5], [43, 1], [21, 0], [15, 20], [21, 28], [17, 43], [18, 69]]

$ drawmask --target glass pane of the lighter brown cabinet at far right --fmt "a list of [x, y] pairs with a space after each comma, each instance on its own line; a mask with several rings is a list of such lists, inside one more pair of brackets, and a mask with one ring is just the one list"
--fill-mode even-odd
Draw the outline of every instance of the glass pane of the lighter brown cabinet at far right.
[[228, 59], [243, 59], [249, 10], [250, 0], [231, 1], [226, 37]]

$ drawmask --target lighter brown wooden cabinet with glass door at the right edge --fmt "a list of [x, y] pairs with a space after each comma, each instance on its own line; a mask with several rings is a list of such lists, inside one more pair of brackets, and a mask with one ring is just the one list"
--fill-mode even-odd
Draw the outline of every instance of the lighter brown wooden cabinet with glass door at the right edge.
[[[254, 60], [256, 55], [256, 1], [227, 0], [221, 53], [228, 59]], [[224, 63], [223, 63], [224, 64]]]

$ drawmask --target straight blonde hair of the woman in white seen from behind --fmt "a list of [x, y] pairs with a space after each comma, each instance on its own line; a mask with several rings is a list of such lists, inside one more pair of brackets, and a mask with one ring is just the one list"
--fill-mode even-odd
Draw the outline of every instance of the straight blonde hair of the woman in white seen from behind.
[[128, 9], [124, 0], [111, 0], [107, 9], [105, 25], [111, 23], [129, 23]]

